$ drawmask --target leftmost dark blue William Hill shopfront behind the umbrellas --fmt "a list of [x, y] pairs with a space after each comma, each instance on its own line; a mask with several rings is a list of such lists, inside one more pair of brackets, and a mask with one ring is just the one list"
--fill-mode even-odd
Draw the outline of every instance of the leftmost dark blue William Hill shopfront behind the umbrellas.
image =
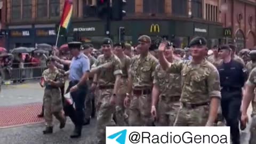
[[30, 28], [13, 28], [7, 30], [7, 49], [25, 46], [34, 47], [34, 29]]

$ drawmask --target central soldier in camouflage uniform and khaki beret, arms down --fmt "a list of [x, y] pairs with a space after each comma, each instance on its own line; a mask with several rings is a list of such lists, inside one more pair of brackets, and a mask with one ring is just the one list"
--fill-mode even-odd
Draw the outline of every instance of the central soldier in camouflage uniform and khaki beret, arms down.
[[[128, 123], [130, 126], [152, 126], [151, 117], [151, 90], [153, 88], [154, 71], [158, 60], [149, 53], [151, 39], [149, 36], [140, 36], [137, 47], [140, 55], [131, 60], [129, 70], [128, 93], [124, 105], [129, 106]], [[129, 103], [129, 101], [131, 102]]]

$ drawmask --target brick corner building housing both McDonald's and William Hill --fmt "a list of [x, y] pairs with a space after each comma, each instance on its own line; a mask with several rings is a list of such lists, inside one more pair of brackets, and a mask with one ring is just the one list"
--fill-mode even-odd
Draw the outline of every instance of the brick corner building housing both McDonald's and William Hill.
[[[55, 45], [58, 23], [65, 0], [6, 1], [6, 47]], [[111, 21], [110, 35], [119, 39], [119, 28], [125, 27], [125, 41], [136, 44], [140, 35], [153, 41], [166, 37], [185, 47], [193, 36], [204, 36], [209, 46], [223, 39], [220, 15], [221, 0], [129, 0], [123, 21]], [[68, 33], [60, 42], [90, 42], [98, 45], [105, 35], [105, 21], [97, 18], [95, 0], [73, 1], [73, 18]]]

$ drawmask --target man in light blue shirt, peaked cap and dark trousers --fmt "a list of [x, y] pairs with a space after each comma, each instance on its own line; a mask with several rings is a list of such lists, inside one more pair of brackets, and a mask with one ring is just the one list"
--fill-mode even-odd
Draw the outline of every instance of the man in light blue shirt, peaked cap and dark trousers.
[[75, 102], [75, 130], [70, 138], [78, 138], [81, 136], [83, 119], [84, 119], [84, 102], [88, 91], [87, 79], [90, 72], [89, 58], [81, 52], [80, 42], [68, 43], [73, 58], [69, 69], [69, 87], [70, 95]]

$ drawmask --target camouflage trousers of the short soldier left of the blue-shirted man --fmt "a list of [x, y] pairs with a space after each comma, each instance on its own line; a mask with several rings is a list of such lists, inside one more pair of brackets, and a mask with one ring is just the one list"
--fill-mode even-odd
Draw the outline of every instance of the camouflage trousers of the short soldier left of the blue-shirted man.
[[52, 115], [54, 115], [61, 123], [65, 122], [61, 92], [59, 89], [45, 89], [43, 103], [46, 126], [52, 126]]

